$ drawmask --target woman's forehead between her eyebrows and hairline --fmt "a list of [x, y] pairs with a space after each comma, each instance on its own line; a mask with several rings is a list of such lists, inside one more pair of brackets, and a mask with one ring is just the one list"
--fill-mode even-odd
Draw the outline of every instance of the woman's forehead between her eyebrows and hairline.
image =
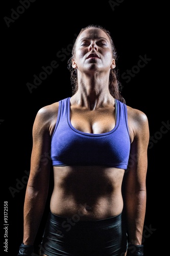
[[108, 35], [99, 28], [89, 28], [84, 30], [80, 35], [78, 40], [82, 40], [83, 38], [88, 39], [98, 39], [98, 38], [105, 38], [107, 41], [110, 41]]

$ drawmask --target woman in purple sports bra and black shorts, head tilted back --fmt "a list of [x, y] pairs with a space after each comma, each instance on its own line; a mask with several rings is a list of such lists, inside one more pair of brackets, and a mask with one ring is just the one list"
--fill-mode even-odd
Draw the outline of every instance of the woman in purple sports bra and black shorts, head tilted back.
[[149, 125], [121, 96], [115, 62], [110, 33], [82, 29], [68, 61], [72, 96], [38, 111], [18, 255], [33, 251], [48, 195], [48, 153], [54, 190], [40, 255], [143, 255]]

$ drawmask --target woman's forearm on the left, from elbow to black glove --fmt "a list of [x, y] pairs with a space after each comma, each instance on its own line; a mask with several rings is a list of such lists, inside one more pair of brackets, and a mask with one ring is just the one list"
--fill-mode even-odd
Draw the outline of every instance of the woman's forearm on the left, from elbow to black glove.
[[42, 190], [27, 188], [23, 210], [23, 243], [26, 245], [34, 244], [45, 207], [46, 195]]

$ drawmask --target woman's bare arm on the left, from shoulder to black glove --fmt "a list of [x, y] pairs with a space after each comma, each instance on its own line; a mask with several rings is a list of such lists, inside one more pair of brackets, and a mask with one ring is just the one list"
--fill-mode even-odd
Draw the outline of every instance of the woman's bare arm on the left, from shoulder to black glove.
[[30, 176], [23, 209], [23, 243], [33, 245], [42, 219], [50, 180], [50, 120], [47, 108], [40, 109], [33, 125]]

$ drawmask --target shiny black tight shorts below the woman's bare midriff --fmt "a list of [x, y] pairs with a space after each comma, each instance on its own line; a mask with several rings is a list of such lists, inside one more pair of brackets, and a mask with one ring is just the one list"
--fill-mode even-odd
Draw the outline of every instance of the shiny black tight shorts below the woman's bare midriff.
[[41, 243], [47, 256], [124, 256], [128, 247], [122, 214], [104, 220], [80, 221], [50, 212]]

